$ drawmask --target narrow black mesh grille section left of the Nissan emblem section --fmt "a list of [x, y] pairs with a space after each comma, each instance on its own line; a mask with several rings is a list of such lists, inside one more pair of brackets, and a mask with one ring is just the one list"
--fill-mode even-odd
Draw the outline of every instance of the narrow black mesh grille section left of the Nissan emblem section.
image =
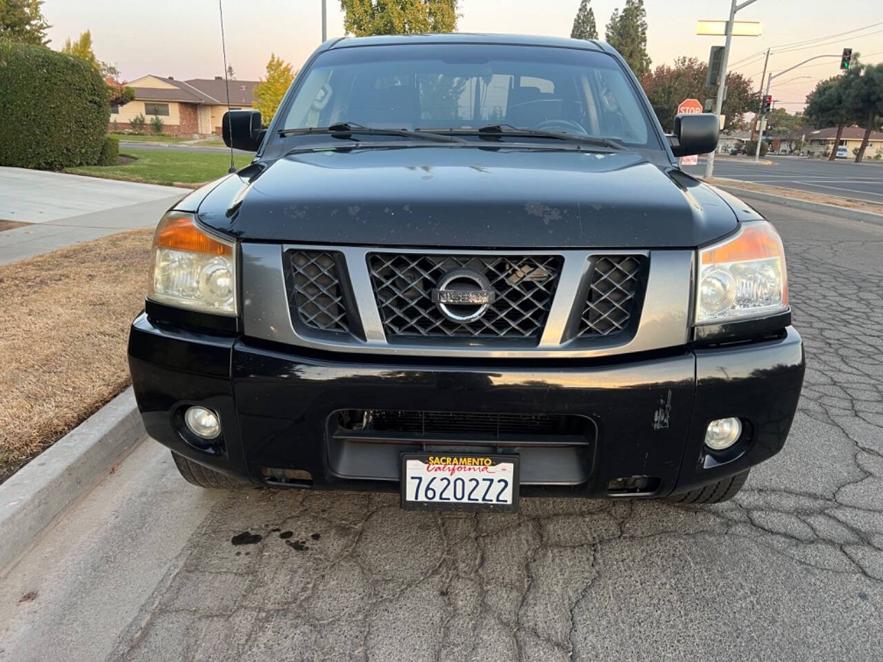
[[330, 251], [285, 252], [285, 284], [291, 318], [321, 331], [351, 333], [344, 302], [339, 253]]

